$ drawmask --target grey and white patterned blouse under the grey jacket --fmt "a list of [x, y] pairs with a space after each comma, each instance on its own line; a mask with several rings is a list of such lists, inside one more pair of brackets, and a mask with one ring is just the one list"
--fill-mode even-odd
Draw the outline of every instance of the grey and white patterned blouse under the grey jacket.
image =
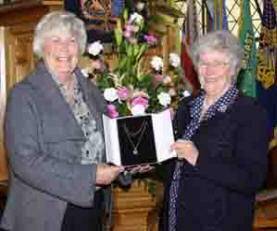
[[93, 114], [90, 112], [86, 102], [83, 98], [80, 85], [76, 76], [74, 75], [74, 101], [73, 104], [69, 103], [68, 89], [64, 84], [59, 82], [59, 78], [52, 76], [57, 83], [65, 101], [69, 104], [75, 119], [81, 127], [86, 142], [81, 148], [80, 163], [81, 164], [92, 164], [92, 163], [103, 163], [104, 156], [104, 140], [101, 131], [97, 129], [96, 121]]

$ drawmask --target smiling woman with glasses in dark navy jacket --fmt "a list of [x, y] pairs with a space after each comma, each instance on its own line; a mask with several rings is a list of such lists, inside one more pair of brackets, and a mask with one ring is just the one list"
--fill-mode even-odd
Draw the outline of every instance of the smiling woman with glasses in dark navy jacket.
[[250, 231], [267, 166], [263, 108], [235, 86], [243, 49], [228, 31], [191, 47], [201, 91], [179, 104], [165, 184], [164, 231]]

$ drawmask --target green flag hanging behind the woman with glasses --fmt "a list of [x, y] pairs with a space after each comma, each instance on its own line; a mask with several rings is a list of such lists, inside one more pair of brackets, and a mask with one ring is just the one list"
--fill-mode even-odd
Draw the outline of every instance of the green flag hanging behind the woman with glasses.
[[257, 61], [249, 0], [241, 0], [240, 4], [239, 41], [243, 46], [244, 58], [237, 84], [242, 93], [255, 98]]

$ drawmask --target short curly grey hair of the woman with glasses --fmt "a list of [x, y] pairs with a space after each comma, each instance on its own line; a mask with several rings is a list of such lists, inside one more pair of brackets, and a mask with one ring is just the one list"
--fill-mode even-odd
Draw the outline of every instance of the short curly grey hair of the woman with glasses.
[[235, 70], [233, 80], [236, 81], [244, 53], [238, 39], [231, 32], [227, 30], [209, 32], [193, 43], [189, 50], [193, 64], [196, 68], [198, 67], [200, 54], [210, 50], [226, 53], [228, 55], [226, 58], [229, 59], [230, 65]]

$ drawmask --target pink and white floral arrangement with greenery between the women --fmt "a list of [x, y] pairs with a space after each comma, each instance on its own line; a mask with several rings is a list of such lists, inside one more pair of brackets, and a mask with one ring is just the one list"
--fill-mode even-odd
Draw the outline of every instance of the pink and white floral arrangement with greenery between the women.
[[122, 19], [117, 21], [114, 30], [115, 49], [118, 63], [109, 70], [104, 62], [103, 45], [96, 41], [88, 46], [94, 83], [103, 91], [108, 103], [111, 118], [126, 115], [142, 115], [159, 112], [168, 107], [175, 108], [179, 97], [184, 93], [180, 76], [178, 54], [169, 54], [169, 70], [163, 73], [164, 60], [152, 57], [150, 67], [145, 53], [151, 46], [159, 43], [156, 36], [147, 33], [144, 18], [133, 13], [128, 16], [125, 10]]

